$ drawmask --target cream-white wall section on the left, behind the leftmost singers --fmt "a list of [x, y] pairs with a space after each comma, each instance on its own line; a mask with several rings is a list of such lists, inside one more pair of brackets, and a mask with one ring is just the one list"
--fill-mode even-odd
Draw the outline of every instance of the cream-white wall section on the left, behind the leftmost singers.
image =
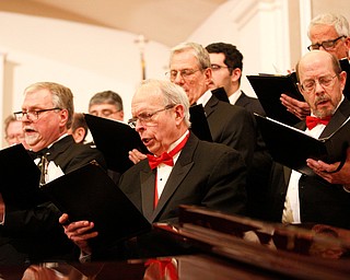
[[[7, 12], [0, 12], [0, 54], [5, 54], [2, 120], [21, 108], [23, 90], [37, 81], [70, 88], [77, 112], [86, 112], [95, 92], [116, 91], [124, 100], [126, 119], [130, 117], [131, 96], [142, 79], [138, 35]], [[163, 79], [168, 48], [149, 42], [144, 57], [147, 77]], [[2, 127], [0, 136], [3, 139]]]

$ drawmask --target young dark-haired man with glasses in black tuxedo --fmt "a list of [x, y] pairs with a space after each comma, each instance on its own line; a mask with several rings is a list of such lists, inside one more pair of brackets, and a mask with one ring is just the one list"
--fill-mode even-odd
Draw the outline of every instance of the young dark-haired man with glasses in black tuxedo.
[[[206, 47], [209, 52], [212, 70], [212, 88], [222, 86], [229, 101], [233, 105], [244, 107], [249, 113], [257, 113], [265, 116], [258, 98], [247, 96], [241, 90], [243, 70], [243, 55], [231, 44], [212, 43]], [[255, 128], [258, 130], [258, 128]], [[254, 151], [252, 167], [248, 171], [248, 214], [254, 218], [264, 218], [266, 210], [266, 192], [272, 159], [267, 151], [266, 144], [257, 131], [257, 144]]]

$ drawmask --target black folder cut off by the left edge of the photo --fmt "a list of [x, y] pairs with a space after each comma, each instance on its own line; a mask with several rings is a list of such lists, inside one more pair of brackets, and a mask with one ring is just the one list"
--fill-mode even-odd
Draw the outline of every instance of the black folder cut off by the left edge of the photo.
[[0, 150], [0, 192], [9, 208], [27, 209], [47, 201], [38, 188], [40, 171], [22, 144]]

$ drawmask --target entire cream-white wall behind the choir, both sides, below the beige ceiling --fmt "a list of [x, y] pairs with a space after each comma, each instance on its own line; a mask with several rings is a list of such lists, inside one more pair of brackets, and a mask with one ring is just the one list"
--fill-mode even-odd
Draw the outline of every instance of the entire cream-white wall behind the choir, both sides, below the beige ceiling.
[[[308, 44], [302, 28], [299, 37], [293, 31], [293, 40], [289, 42], [290, 26], [293, 26], [290, 23], [299, 21], [299, 14], [289, 14], [291, 1], [296, 0], [229, 0], [187, 40], [203, 46], [213, 42], [236, 45], [244, 56], [244, 74], [277, 70], [285, 73], [293, 68], [291, 51], [294, 57], [296, 54], [293, 48], [296, 46], [298, 54], [303, 54]], [[301, 25], [307, 24], [311, 14], [328, 11], [329, 4], [330, 0], [299, 0]], [[331, 1], [331, 11], [345, 12], [349, 19], [345, 7], [348, 0]], [[141, 80], [140, 52], [135, 44], [138, 35], [0, 12], [0, 57], [4, 54], [2, 84], [0, 78], [0, 138], [3, 139], [4, 117], [21, 108], [25, 86], [44, 80], [69, 86], [74, 94], [77, 112], [86, 112], [95, 92], [116, 91], [122, 96], [126, 119], [129, 118], [131, 96]], [[168, 47], [149, 42], [144, 56], [147, 78], [163, 79]], [[242, 89], [255, 96], [246, 79], [242, 81]]]

